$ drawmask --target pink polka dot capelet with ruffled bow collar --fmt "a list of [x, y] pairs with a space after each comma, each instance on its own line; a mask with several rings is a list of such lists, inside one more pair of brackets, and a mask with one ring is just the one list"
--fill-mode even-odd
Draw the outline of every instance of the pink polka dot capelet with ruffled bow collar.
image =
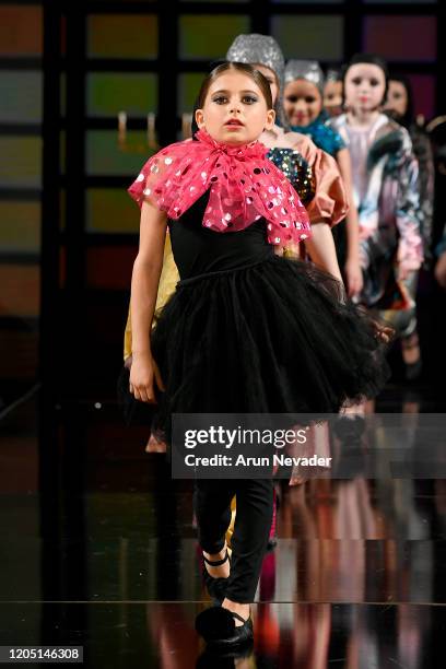
[[219, 233], [245, 230], [267, 220], [268, 242], [277, 246], [312, 236], [308, 214], [298, 195], [256, 141], [228, 145], [206, 130], [153, 155], [128, 189], [142, 207], [145, 199], [179, 219], [208, 189], [202, 225]]

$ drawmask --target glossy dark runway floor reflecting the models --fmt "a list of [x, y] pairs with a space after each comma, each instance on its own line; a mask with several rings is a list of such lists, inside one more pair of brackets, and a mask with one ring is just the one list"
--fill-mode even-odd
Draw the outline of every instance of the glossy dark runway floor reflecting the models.
[[[376, 410], [445, 406], [390, 387]], [[254, 652], [200, 660], [193, 621], [209, 600], [190, 482], [172, 481], [111, 404], [48, 411], [34, 397], [2, 434], [0, 645], [83, 646], [94, 669], [444, 666], [445, 479], [282, 482]]]

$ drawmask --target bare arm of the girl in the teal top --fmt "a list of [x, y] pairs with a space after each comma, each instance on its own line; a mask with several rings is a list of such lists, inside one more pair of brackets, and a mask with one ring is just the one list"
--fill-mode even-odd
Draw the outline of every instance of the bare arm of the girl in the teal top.
[[360, 265], [360, 223], [353, 199], [352, 166], [349, 150], [341, 149], [338, 151], [337, 161], [350, 203], [349, 213], [345, 216], [347, 259], [344, 269], [348, 294], [349, 297], [352, 297], [361, 292], [363, 277]]

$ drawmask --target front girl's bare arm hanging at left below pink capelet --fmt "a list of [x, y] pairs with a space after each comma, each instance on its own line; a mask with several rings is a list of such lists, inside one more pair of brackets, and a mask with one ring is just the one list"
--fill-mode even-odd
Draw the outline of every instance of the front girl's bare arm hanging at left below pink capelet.
[[131, 278], [132, 364], [130, 391], [143, 402], [154, 402], [153, 380], [163, 390], [156, 363], [152, 357], [150, 332], [163, 267], [167, 216], [144, 201], [141, 208], [140, 245]]

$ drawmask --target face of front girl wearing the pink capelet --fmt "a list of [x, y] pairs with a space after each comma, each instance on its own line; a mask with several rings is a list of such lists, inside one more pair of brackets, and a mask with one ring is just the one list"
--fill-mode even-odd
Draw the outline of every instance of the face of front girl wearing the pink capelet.
[[218, 142], [249, 144], [274, 124], [275, 113], [268, 109], [256, 82], [237, 71], [227, 71], [209, 87], [202, 109], [197, 109], [198, 127]]

